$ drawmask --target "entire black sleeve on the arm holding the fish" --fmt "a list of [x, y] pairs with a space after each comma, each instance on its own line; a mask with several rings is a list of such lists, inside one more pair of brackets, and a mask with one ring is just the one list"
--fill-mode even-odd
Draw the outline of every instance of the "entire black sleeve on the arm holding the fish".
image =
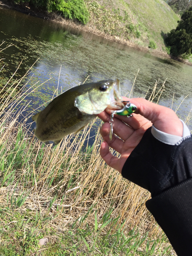
[[127, 158], [122, 176], [146, 188], [146, 202], [179, 256], [192, 255], [192, 136], [165, 144], [148, 129]]

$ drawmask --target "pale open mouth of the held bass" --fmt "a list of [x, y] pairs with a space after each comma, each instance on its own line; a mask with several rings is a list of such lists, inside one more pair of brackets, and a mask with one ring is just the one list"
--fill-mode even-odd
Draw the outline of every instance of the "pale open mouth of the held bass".
[[120, 81], [119, 79], [116, 79], [113, 83], [113, 89], [111, 90], [111, 104], [108, 105], [109, 109], [122, 109], [124, 104], [123, 104], [123, 99], [121, 96], [120, 92]]

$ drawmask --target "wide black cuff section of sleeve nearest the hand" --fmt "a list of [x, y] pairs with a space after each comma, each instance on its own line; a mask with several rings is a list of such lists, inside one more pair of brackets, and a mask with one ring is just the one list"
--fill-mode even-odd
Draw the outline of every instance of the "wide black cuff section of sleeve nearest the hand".
[[192, 177], [192, 137], [182, 137], [172, 145], [155, 138], [151, 130], [145, 132], [127, 158], [122, 176], [149, 190], [154, 197]]

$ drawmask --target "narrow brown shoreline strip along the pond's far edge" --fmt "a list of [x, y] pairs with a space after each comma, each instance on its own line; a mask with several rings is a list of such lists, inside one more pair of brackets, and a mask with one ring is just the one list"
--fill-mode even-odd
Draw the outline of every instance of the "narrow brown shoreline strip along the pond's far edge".
[[134, 44], [133, 42], [131, 42], [129, 40], [121, 39], [117, 36], [108, 35], [104, 32], [99, 31], [96, 28], [93, 28], [93, 27], [89, 26], [89, 23], [88, 23], [88, 25], [81, 25], [77, 22], [74, 22], [73, 20], [65, 19], [61, 15], [58, 15], [56, 13], [48, 13], [48, 12], [45, 12], [45, 11], [40, 11], [39, 12], [39, 11], [36, 11], [34, 9], [31, 9], [30, 7], [28, 7], [26, 5], [20, 6], [18, 4], [10, 3], [7, 0], [0, 0], [0, 8], [1, 7], [2, 8], [7, 8], [7, 9], [12, 9], [12, 10], [15, 10], [15, 11], [18, 11], [18, 12], [22, 12], [24, 14], [31, 15], [31, 16], [34, 16], [34, 17], [44, 18], [44, 19], [50, 20], [51, 22], [60, 23], [62, 25], [65, 25], [66, 27], [69, 27], [71, 29], [75, 29], [79, 32], [89, 33], [92, 36], [98, 36], [100, 38], [109, 40], [111, 42], [116, 42], [119, 45], [131, 47], [131, 48], [133, 48], [137, 51], [141, 51], [143, 53], [151, 54], [155, 57], [173, 59], [173, 60], [176, 60], [178, 62], [182, 62], [186, 65], [192, 66], [192, 63], [190, 63], [188, 60], [184, 60], [184, 59], [181, 59], [181, 58], [173, 58], [172, 56], [170, 56], [169, 54], [167, 54], [165, 52], [150, 49], [148, 47], [139, 46], [139, 45]]

